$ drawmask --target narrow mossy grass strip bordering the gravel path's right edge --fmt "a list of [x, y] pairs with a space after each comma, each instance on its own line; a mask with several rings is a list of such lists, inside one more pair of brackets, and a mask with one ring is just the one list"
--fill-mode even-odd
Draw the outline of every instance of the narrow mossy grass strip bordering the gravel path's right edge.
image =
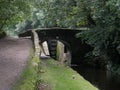
[[38, 77], [38, 57], [33, 57], [28, 61], [20, 80], [13, 86], [13, 90], [36, 90]]

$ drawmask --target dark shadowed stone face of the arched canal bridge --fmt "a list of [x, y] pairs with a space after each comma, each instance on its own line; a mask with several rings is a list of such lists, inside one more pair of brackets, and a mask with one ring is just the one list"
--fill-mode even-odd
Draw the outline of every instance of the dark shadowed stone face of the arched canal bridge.
[[[51, 46], [56, 48], [56, 45], [53, 45], [56, 40], [59, 40], [65, 45], [65, 48], [69, 49], [72, 56], [72, 63], [79, 63], [84, 60], [85, 54], [90, 51], [91, 47], [83, 42], [80, 38], [76, 38], [75, 35], [81, 30], [72, 30], [72, 29], [38, 29], [36, 30], [40, 42], [47, 41], [50, 56], [56, 58], [56, 53], [54, 49], [52, 51]], [[19, 34], [20, 37], [32, 35], [31, 31], [26, 31], [25, 33]], [[54, 54], [53, 54], [54, 53]], [[79, 60], [78, 60], [79, 59]]]

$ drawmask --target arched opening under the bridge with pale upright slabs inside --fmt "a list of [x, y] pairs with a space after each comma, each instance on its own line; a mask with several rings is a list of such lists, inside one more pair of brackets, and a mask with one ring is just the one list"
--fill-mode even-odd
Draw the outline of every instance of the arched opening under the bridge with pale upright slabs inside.
[[59, 39], [46, 39], [39, 44], [40, 58], [53, 58], [62, 64], [71, 65], [71, 49], [67, 42]]

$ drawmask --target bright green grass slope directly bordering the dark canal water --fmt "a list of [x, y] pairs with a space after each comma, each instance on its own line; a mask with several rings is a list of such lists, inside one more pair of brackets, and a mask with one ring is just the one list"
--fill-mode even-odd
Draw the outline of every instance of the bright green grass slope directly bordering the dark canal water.
[[54, 60], [41, 61], [40, 68], [40, 85], [49, 87], [44, 90], [98, 90], [77, 72]]

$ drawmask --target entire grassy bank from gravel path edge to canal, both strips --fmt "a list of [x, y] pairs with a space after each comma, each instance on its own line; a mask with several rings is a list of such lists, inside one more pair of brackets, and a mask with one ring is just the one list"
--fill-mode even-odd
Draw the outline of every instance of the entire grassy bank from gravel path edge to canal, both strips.
[[[13, 90], [98, 90], [71, 68], [54, 60], [33, 57]], [[39, 71], [39, 72], [38, 72]]]

